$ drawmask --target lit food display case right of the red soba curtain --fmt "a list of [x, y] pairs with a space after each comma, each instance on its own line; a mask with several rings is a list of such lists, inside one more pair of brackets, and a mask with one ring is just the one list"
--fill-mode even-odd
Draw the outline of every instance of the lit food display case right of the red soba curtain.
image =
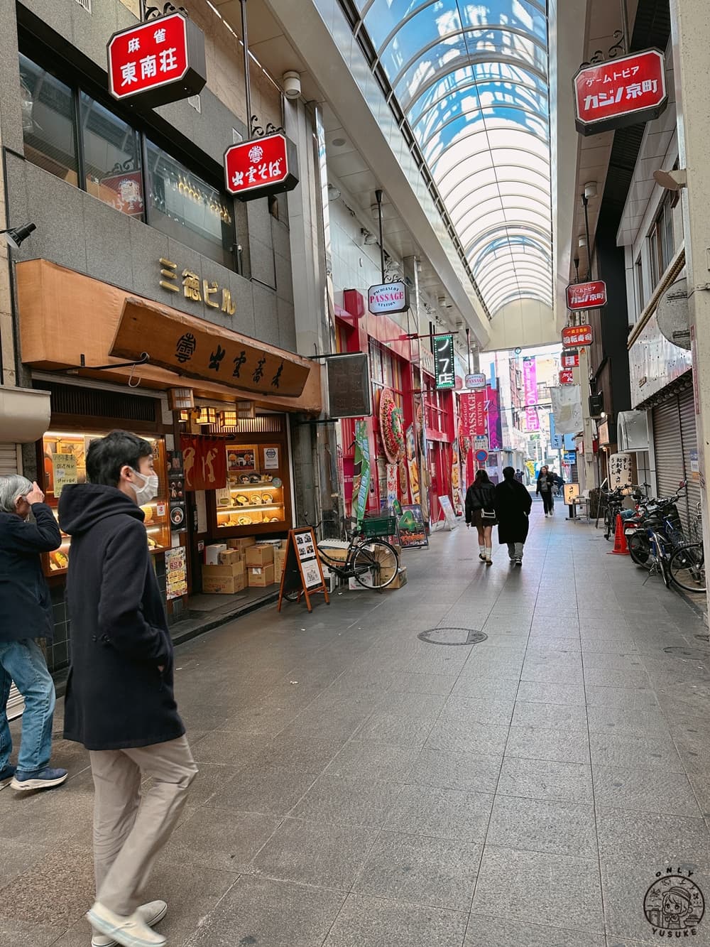
[[283, 533], [291, 528], [289, 458], [285, 441], [225, 441], [227, 486], [213, 491], [213, 534]]

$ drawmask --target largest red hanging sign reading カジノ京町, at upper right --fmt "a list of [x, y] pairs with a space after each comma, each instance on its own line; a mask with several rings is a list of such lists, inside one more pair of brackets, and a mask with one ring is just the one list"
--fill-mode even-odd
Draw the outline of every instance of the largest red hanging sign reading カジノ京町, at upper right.
[[666, 108], [666, 58], [659, 49], [580, 69], [573, 80], [581, 134], [609, 132], [657, 118]]

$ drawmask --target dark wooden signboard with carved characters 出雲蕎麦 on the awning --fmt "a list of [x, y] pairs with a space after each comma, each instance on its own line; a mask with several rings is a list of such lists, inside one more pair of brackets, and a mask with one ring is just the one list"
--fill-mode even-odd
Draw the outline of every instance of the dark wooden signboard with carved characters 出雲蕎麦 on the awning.
[[143, 351], [151, 365], [187, 378], [286, 398], [301, 395], [312, 367], [297, 355], [129, 296], [110, 354], [131, 359]]

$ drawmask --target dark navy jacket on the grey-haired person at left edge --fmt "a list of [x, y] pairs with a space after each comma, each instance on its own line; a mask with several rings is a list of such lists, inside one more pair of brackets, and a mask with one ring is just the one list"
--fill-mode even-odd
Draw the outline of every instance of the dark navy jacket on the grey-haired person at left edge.
[[46, 504], [33, 503], [32, 514], [34, 523], [0, 513], [0, 643], [51, 639], [54, 632], [40, 553], [58, 549], [62, 536]]

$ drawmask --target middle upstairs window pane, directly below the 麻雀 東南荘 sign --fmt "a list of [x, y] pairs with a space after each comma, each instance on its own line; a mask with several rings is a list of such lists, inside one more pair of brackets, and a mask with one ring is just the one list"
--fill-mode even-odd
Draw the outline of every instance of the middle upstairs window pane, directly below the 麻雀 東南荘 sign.
[[80, 115], [86, 190], [104, 204], [142, 220], [145, 206], [138, 133], [83, 92]]

